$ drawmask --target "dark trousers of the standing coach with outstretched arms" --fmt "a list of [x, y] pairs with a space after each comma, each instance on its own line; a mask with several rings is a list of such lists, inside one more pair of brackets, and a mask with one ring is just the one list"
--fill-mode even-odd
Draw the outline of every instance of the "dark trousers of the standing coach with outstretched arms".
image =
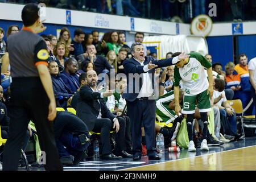
[[128, 116], [131, 121], [131, 139], [133, 141], [133, 155], [141, 155], [141, 126], [145, 130], [147, 155], [156, 155], [155, 148], [155, 101], [135, 100], [127, 101]]

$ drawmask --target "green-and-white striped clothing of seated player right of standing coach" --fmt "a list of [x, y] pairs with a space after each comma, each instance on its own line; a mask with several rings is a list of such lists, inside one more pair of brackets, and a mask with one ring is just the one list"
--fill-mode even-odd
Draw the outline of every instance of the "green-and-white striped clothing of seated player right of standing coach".
[[168, 108], [171, 101], [174, 100], [174, 91], [167, 92], [163, 96], [160, 96], [158, 100], [156, 100], [156, 114], [159, 115], [160, 118], [163, 119], [163, 122], [168, 123], [174, 121], [177, 118], [177, 115], [174, 110]]

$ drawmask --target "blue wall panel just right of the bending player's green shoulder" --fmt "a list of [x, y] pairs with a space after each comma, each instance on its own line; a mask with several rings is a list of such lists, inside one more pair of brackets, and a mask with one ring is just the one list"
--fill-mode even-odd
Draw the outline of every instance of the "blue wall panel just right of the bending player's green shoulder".
[[213, 63], [221, 63], [222, 69], [226, 63], [233, 61], [233, 36], [208, 37], [207, 44]]

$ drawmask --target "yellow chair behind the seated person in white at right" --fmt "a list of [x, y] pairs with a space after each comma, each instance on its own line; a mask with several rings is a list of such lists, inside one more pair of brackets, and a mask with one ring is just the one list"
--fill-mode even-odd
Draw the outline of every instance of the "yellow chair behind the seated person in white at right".
[[245, 139], [245, 130], [243, 129], [243, 118], [255, 118], [255, 116], [254, 115], [246, 115], [246, 116], [243, 115], [245, 110], [243, 110], [242, 101], [240, 99], [231, 100], [231, 101], [227, 101], [227, 102], [230, 106], [233, 107], [233, 109], [236, 111], [237, 114], [241, 114], [241, 115], [237, 116], [237, 118], [240, 118], [240, 120], [241, 120], [243, 139]]

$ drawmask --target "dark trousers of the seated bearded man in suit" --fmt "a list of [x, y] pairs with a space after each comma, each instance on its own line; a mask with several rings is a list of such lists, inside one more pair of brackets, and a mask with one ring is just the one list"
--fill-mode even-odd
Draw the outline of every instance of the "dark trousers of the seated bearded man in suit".
[[109, 118], [96, 119], [94, 128], [92, 131], [101, 133], [101, 143], [102, 143], [102, 155], [111, 154], [110, 145], [110, 130], [112, 127], [112, 121]]

